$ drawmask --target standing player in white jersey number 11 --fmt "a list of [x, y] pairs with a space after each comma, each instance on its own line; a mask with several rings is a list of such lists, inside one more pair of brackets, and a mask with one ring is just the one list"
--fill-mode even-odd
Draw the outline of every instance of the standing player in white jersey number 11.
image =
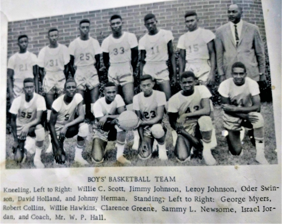
[[170, 61], [172, 81], [176, 84], [176, 63], [173, 51], [173, 36], [168, 30], [158, 29], [157, 20], [154, 14], [147, 14], [144, 17], [145, 27], [148, 33], [139, 40], [141, 50], [140, 75], [152, 75], [158, 87], [165, 93], [166, 100], [171, 97], [169, 83], [169, 69], [166, 61]]

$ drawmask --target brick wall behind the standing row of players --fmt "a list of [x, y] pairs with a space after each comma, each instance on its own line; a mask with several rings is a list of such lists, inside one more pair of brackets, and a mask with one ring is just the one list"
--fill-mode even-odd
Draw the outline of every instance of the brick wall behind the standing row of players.
[[68, 46], [79, 36], [78, 24], [82, 19], [90, 20], [90, 36], [101, 44], [110, 34], [109, 19], [113, 14], [120, 14], [124, 21], [123, 30], [133, 32], [139, 39], [146, 33], [144, 16], [153, 13], [158, 20], [159, 28], [172, 30], [176, 45], [180, 35], [187, 31], [184, 24], [186, 11], [196, 10], [199, 26], [215, 32], [220, 25], [228, 21], [227, 7], [231, 3], [241, 5], [243, 19], [256, 24], [262, 37], [265, 37], [260, 0], [177, 0], [9, 22], [8, 57], [18, 52], [17, 38], [21, 34], [29, 36], [28, 49], [38, 55], [39, 50], [49, 44], [47, 32], [50, 27], [58, 28], [59, 42]]

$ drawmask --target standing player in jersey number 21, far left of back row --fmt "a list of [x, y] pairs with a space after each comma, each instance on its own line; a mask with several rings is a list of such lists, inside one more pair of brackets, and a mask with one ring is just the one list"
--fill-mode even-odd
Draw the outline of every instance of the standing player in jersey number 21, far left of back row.
[[20, 51], [8, 60], [7, 79], [10, 101], [24, 93], [23, 80], [34, 78], [35, 91], [38, 93], [38, 68], [36, 55], [27, 51], [28, 37], [21, 35], [18, 38]]

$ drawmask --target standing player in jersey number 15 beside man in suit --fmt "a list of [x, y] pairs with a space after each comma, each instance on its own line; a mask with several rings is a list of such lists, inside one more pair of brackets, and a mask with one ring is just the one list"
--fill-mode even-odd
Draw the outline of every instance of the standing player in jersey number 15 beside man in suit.
[[215, 35], [210, 30], [198, 27], [198, 21], [196, 12], [185, 14], [189, 31], [180, 36], [177, 44], [180, 49], [179, 74], [192, 71], [200, 84], [209, 87], [215, 79]]

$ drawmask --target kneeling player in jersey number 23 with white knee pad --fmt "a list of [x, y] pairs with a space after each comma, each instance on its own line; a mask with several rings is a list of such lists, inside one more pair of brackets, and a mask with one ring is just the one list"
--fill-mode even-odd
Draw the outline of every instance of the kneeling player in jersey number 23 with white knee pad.
[[152, 156], [154, 138], [158, 144], [158, 157], [167, 160], [165, 149], [166, 128], [161, 124], [166, 105], [165, 93], [153, 90], [154, 82], [150, 75], [140, 77], [141, 93], [133, 97], [133, 109], [141, 119], [138, 132], [140, 136], [139, 158]]

